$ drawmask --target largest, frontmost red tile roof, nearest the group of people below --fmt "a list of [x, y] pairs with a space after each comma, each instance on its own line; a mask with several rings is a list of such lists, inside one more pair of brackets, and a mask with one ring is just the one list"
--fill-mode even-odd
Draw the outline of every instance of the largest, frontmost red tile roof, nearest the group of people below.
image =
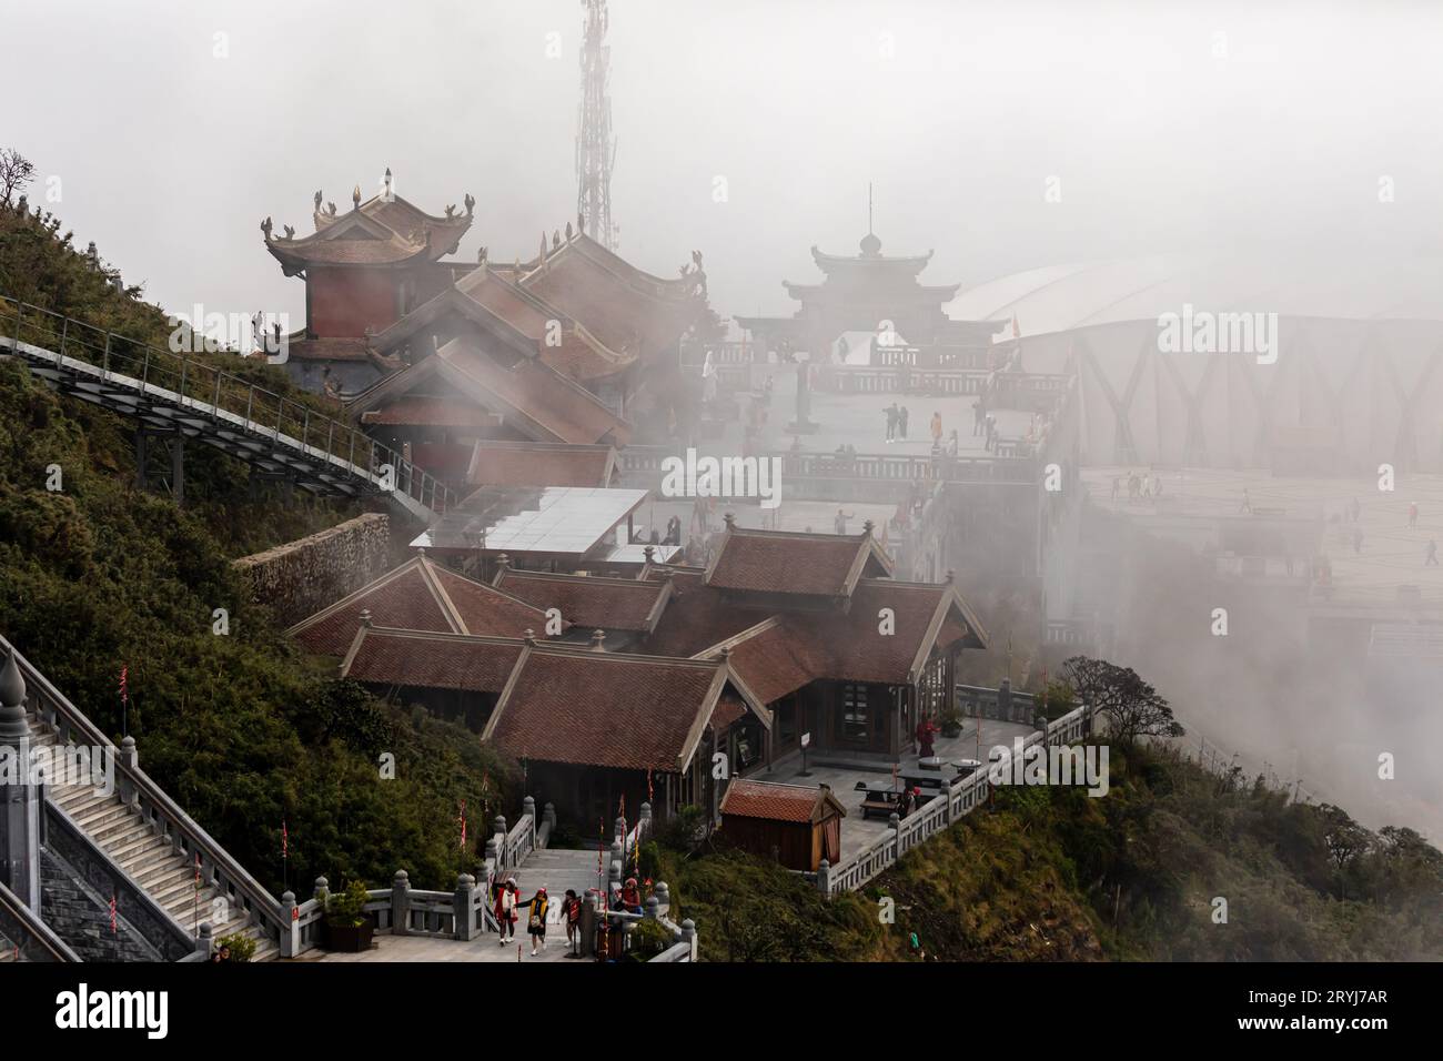
[[714, 661], [535, 645], [482, 739], [517, 758], [678, 772], [724, 687]]

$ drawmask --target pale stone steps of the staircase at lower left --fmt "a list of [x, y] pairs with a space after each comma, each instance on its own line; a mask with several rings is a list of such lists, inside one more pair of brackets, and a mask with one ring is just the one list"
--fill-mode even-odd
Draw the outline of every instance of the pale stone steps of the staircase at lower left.
[[[55, 730], [42, 719], [35, 713], [27, 717], [36, 745], [58, 743]], [[198, 924], [211, 922], [212, 938], [216, 941], [234, 933], [255, 940], [253, 961], [278, 957], [276, 944], [258, 925], [248, 924], [232, 904], [225, 904], [225, 920], [216, 920], [214, 902], [219, 898], [219, 891], [206, 883], [198, 894], [193, 863], [165, 837], [156, 836], [150, 823], [123, 803], [118, 793], [98, 795], [91, 785], [65, 785], [48, 788], [46, 798], [192, 935], [196, 934]]]

